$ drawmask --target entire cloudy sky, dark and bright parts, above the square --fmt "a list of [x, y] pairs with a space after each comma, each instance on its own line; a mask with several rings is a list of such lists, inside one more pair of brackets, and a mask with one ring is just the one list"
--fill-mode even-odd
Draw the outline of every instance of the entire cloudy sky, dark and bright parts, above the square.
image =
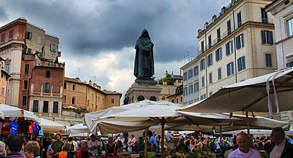
[[[19, 17], [58, 36], [66, 76], [125, 93], [133, 84], [135, 41], [145, 28], [155, 77], [180, 74], [197, 55], [197, 30], [230, 0], [1, 0], [0, 25]], [[123, 98], [122, 98], [123, 100]]]

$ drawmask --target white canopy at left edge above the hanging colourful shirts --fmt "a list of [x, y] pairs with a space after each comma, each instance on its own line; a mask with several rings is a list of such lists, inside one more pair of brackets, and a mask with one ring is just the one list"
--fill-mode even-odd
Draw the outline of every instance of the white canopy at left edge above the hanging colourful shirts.
[[19, 109], [15, 106], [0, 104], [0, 111], [5, 113], [5, 117], [24, 117], [24, 119], [34, 120], [38, 124], [41, 122], [41, 120], [39, 119], [39, 117], [37, 117], [37, 115], [35, 115], [35, 113]]

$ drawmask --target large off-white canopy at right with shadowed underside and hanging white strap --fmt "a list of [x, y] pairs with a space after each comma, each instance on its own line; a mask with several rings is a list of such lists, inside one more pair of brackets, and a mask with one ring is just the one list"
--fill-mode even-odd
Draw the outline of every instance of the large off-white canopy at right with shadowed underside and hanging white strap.
[[[206, 100], [180, 111], [228, 113], [234, 111], [273, 112], [293, 109], [293, 67], [222, 87]], [[268, 95], [270, 93], [270, 95]]]

